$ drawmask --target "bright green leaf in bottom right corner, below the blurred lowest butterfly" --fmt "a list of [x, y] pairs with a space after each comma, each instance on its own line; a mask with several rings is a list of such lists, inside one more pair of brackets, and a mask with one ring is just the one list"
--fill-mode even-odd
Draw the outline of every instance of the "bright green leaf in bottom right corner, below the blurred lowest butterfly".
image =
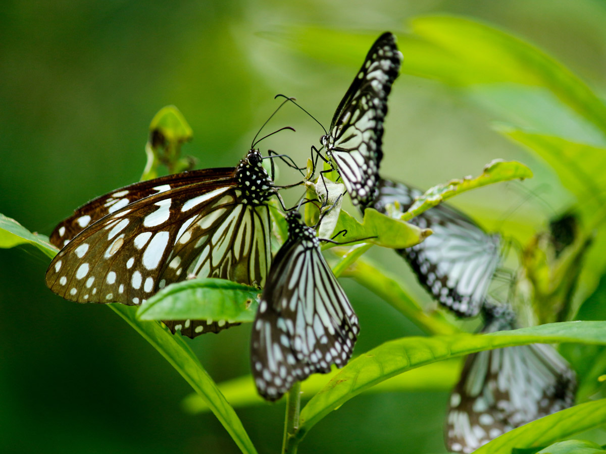
[[[575, 433], [592, 429], [606, 423], [606, 399], [580, 404], [553, 415], [537, 419], [518, 429], [510, 430], [493, 441], [476, 449], [474, 454], [510, 454], [513, 448], [547, 446]], [[582, 444], [587, 443], [587, 444]], [[579, 450], [574, 450], [574, 448]], [[599, 446], [577, 440], [557, 443], [540, 450], [549, 454], [593, 454], [601, 453]]]

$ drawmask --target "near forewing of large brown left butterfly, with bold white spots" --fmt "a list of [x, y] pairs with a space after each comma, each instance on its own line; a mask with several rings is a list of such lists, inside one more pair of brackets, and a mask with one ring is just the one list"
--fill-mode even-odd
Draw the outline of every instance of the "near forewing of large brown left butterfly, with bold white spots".
[[[210, 183], [204, 189], [182, 186], [105, 216], [53, 259], [48, 288], [79, 303], [141, 303], [162, 287], [162, 264], [182, 226], [198, 219], [199, 210], [212, 215], [225, 203], [235, 203], [234, 188], [235, 182]], [[178, 275], [187, 277], [182, 270]]]

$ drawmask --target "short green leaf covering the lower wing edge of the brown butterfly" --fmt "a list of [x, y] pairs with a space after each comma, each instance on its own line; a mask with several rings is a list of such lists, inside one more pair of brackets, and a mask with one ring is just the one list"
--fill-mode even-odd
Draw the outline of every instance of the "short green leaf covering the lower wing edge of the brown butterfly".
[[226, 279], [198, 278], [171, 284], [139, 307], [139, 320], [255, 320], [259, 289]]

